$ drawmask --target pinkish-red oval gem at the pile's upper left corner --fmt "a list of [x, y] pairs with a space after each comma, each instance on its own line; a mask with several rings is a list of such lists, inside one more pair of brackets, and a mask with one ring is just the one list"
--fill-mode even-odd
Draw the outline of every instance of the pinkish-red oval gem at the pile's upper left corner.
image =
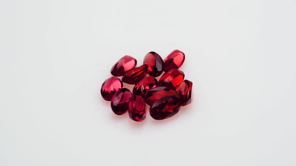
[[125, 55], [121, 57], [111, 68], [111, 74], [114, 76], [122, 76], [128, 70], [131, 70], [136, 66], [136, 59]]

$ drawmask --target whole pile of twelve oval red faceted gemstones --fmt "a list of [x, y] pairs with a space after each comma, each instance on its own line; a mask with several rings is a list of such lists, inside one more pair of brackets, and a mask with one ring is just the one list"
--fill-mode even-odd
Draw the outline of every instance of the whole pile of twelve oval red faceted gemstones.
[[[178, 68], [183, 64], [185, 54], [174, 50], [165, 58], [156, 53], [145, 55], [143, 64], [136, 66], [136, 59], [125, 55], [111, 68], [114, 75], [104, 81], [102, 97], [111, 101], [111, 108], [117, 115], [128, 111], [129, 117], [142, 121], [146, 116], [146, 104], [150, 115], [162, 120], [178, 113], [181, 106], [191, 102], [192, 82], [184, 79], [184, 72]], [[155, 77], [165, 73], [159, 80]], [[146, 76], [149, 74], [150, 76]], [[121, 80], [115, 76], [122, 76]], [[146, 77], [145, 77], [146, 76]], [[123, 88], [123, 83], [135, 84], [132, 92]]]

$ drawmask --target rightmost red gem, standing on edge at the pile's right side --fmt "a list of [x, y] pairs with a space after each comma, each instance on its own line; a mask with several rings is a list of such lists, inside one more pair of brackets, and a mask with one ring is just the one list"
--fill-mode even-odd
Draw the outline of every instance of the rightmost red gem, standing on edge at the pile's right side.
[[180, 104], [182, 106], [187, 105], [191, 102], [191, 91], [192, 91], [192, 82], [185, 79], [178, 87], [178, 94]]

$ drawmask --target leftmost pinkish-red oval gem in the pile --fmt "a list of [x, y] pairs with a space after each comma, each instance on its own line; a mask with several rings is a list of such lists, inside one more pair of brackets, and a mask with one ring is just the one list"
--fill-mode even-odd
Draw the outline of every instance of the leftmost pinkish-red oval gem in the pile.
[[102, 97], [107, 101], [111, 101], [114, 93], [121, 89], [122, 86], [121, 80], [115, 76], [106, 79], [101, 86]]

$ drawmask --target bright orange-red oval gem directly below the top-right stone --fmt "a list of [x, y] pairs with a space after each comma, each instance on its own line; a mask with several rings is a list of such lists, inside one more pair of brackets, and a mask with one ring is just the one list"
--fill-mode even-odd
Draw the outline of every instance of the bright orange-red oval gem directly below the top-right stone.
[[178, 69], [171, 69], [168, 72], [164, 73], [160, 78], [158, 85], [159, 86], [168, 86], [170, 88], [176, 89], [184, 79], [184, 72]]

